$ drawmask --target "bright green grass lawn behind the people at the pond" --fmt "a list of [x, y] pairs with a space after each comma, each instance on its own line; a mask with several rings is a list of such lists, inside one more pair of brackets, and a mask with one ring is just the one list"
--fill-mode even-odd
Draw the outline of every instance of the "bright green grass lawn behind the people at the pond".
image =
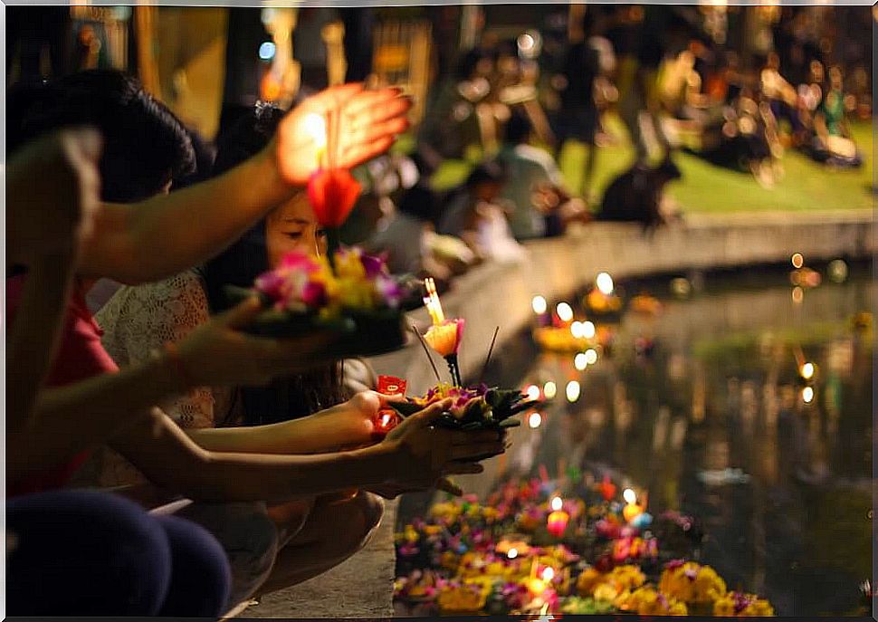
[[[618, 144], [599, 148], [596, 173], [589, 195], [596, 204], [613, 177], [630, 166], [634, 149], [627, 144], [625, 131], [611, 120], [609, 129]], [[799, 211], [809, 209], [847, 209], [872, 206], [873, 153], [872, 124], [858, 122], [852, 127], [854, 139], [863, 153], [864, 165], [854, 170], [834, 170], [820, 165], [804, 154], [787, 149], [782, 160], [784, 176], [773, 187], [762, 187], [749, 173], [739, 173], [690, 154], [678, 153], [674, 161], [683, 177], [669, 187], [669, 193], [684, 212], [711, 213], [744, 210]], [[561, 151], [559, 166], [569, 187], [582, 187], [587, 148], [569, 141]], [[444, 163], [434, 176], [437, 188], [451, 187], [463, 181], [478, 158]]]

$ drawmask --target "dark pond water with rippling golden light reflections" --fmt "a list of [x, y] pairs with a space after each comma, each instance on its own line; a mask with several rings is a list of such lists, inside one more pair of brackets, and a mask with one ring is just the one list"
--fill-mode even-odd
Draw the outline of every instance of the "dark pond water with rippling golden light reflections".
[[[488, 381], [552, 381], [557, 397], [538, 428], [514, 430], [506, 456], [461, 482], [483, 495], [539, 464], [610, 469], [648, 491], [654, 515], [701, 519], [701, 562], [730, 589], [758, 592], [781, 616], [854, 613], [872, 556], [873, 358], [871, 331], [852, 319], [871, 311], [875, 287], [864, 270], [840, 284], [820, 272], [801, 301], [786, 270], [708, 276], [686, 300], [665, 295], [668, 281], [624, 283], [663, 310], [617, 318], [612, 348], [583, 371], [575, 353], [539, 352], [523, 334], [495, 353]], [[810, 381], [803, 361], [816, 366]], [[404, 499], [401, 520], [426, 501]]]

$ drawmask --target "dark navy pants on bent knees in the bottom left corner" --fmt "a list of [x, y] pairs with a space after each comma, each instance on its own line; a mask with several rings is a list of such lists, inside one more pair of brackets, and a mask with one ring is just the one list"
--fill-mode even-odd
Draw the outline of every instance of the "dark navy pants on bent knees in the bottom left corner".
[[207, 531], [94, 491], [6, 502], [10, 616], [218, 617], [231, 577]]

